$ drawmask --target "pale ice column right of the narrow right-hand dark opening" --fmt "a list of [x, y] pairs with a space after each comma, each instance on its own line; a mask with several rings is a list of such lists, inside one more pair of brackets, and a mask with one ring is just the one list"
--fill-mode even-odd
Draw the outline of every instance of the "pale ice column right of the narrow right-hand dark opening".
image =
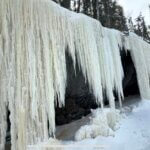
[[133, 33], [126, 42], [136, 68], [141, 97], [150, 99], [150, 45]]

